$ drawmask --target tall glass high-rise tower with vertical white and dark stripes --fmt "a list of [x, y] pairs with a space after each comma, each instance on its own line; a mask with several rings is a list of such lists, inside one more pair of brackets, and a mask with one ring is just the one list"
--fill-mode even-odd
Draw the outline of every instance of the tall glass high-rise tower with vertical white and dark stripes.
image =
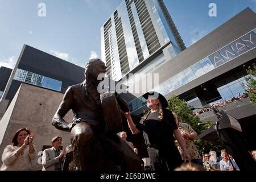
[[159, 67], [185, 49], [162, 0], [123, 0], [101, 27], [101, 55], [115, 81]]

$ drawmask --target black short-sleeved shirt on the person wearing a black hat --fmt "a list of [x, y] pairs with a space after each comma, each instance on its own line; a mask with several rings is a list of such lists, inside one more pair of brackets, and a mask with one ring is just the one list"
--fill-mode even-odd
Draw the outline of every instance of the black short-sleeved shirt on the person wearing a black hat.
[[164, 109], [163, 119], [158, 118], [159, 111], [150, 113], [146, 120], [136, 125], [139, 131], [143, 131], [143, 137], [147, 146], [170, 145], [174, 143], [174, 130], [177, 129], [172, 111]]

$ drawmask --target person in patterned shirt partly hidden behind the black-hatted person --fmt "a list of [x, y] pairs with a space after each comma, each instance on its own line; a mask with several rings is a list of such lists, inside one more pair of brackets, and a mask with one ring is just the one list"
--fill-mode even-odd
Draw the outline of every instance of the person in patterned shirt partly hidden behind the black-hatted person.
[[[193, 142], [193, 140], [196, 139], [196, 137], [197, 137], [196, 131], [193, 130], [192, 127], [188, 123], [179, 122], [177, 119], [177, 115], [175, 113], [173, 113], [173, 114], [175, 117], [176, 125], [185, 140], [186, 147], [191, 156], [191, 162], [203, 166], [203, 162], [200, 158], [199, 151], [197, 150], [197, 147], [196, 147], [195, 143]], [[177, 140], [175, 140], [175, 144], [180, 152], [181, 158], [184, 160], [183, 149], [180, 147]]]

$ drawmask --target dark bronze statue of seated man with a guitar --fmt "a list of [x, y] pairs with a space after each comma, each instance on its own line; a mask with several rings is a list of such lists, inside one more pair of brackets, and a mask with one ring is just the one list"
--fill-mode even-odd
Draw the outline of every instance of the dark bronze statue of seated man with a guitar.
[[[100, 59], [89, 60], [85, 67], [84, 82], [67, 89], [52, 119], [52, 125], [57, 129], [71, 131], [71, 146], [67, 149], [72, 151], [69, 155], [72, 154], [73, 161], [64, 162], [64, 169], [68, 165], [71, 169], [73, 165], [82, 171], [120, 168], [137, 171], [140, 167], [138, 155], [118, 137], [115, 130], [108, 130], [106, 126], [106, 112], [102, 110], [101, 96], [97, 91], [100, 83], [97, 77], [101, 73], [106, 73], [105, 63]], [[129, 110], [121, 96], [116, 93], [114, 96], [118, 104], [122, 105], [121, 109]], [[73, 111], [73, 121], [68, 123], [63, 117], [70, 109]]]

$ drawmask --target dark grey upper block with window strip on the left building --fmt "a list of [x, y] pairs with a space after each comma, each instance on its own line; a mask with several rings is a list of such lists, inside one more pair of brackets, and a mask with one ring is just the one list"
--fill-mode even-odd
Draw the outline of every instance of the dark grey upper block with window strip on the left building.
[[[84, 80], [84, 71], [75, 64], [24, 45], [2, 93], [0, 118], [22, 82], [65, 93], [68, 86]], [[0, 77], [1, 82], [2, 79]]]

